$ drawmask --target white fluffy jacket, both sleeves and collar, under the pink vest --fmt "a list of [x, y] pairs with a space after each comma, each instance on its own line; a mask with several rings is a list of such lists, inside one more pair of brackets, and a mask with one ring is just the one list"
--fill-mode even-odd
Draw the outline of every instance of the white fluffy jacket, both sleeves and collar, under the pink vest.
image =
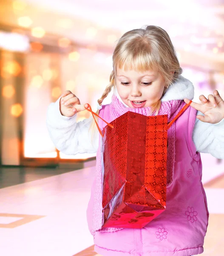
[[[115, 93], [122, 102], [116, 90]], [[183, 76], [180, 76], [178, 81], [170, 85], [161, 100], [169, 101], [184, 98], [192, 100], [193, 97], [193, 84]], [[124, 104], [124, 102], [122, 103]], [[68, 155], [95, 153], [97, 151], [99, 137], [94, 138], [93, 143], [91, 143], [91, 134], [88, 132], [93, 117], [91, 116], [81, 122], [76, 122], [76, 115], [72, 117], [61, 115], [59, 104], [60, 98], [49, 105], [46, 121], [51, 140], [55, 147]], [[197, 114], [203, 115], [199, 111]], [[201, 122], [199, 119], [196, 119], [193, 142], [198, 152], [210, 153], [214, 157], [224, 159], [224, 119], [218, 124]]]

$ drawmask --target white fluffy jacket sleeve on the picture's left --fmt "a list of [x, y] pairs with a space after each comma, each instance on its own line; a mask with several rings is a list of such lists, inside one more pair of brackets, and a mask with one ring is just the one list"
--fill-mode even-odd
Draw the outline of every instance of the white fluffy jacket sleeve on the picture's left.
[[91, 140], [91, 132], [89, 132], [93, 117], [76, 122], [77, 115], [62, 116], [59, 104], [60, 98], [48, 106], [46, 120], [48, 132], [55, 147], [68, 155], [96, 153], [98, 138]]

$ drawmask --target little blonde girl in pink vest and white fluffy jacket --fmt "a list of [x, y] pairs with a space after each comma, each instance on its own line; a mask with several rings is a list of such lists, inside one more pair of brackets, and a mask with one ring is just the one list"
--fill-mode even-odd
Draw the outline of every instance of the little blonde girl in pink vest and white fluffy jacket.
[[[107, 122], [127, 111], [146, 116], [167, 114], [170, 122], [194, 97], [193, 84], [181, 73], [164, 29], [147, 26], [126, 32], [114, 50], [110, 84], [98, 100], [96, 113]], [[102, 105], [112, 89], [111, 104]], [[88, 105], [81, 105], [71, 91], [51, 103], [47, 126], [56, 148], [65, 154], [97, 151], [96, 176], [87, 209], [97, 253], [190, 256], [203, 252], [209, 213], [199, 152], [224, 159], [224, 101], [217, 90], [213, 93], [208, 99], [201, 95], [200, 104], [192, 102], [168, 129], [167, 208], [142, 229], [101, 228], [101, 136], [92, 116], [76, 122], [76, 113]], [[98, 121], [102, 130], [106, 123]]]

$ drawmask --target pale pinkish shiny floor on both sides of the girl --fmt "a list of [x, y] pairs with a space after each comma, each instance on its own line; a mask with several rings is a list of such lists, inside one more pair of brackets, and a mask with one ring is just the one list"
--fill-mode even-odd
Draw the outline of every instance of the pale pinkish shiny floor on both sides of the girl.
[[[210, 220], [201, 255], [221, 256], [224, 161], [208, 154], [202, 161]], [[96, 256], [85, 214], [94, 172], [94, 167], [50, 177], [43, 172], [33, 181], [0, 189], [0, 255]]]

